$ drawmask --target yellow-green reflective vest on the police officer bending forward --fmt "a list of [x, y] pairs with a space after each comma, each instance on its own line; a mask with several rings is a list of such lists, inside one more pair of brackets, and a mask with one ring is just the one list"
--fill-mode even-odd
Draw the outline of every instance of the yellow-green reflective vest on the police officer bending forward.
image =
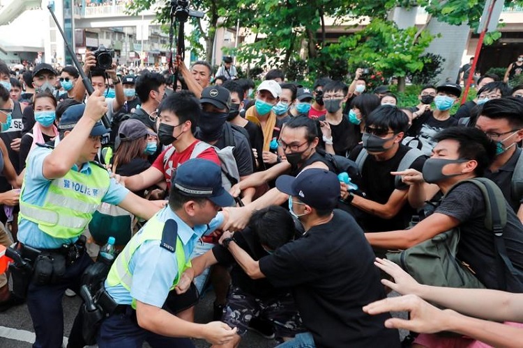
[[[129, 270], [129, 263], [132, 259], [132, 255], [138, 250], [139, 246], [144, 244], [144, 242], [149, 240], [162, 240], [162, 233], [165, 223], [158, 220], [158, 216], [153, 216], [146, 225], [140, 230], [130, 242], [123, 248], [123, 251], [118, 255], [114, 264], [109, 270], [107, 275], [107, 284], [109, 286], [122, 285], [126, 290], [130, 292], [132, 287], [132, 274]], [[160, 248], [160, 246], [158, 246]], [[176, 238], [176, 262], [178, 263], [178, 274], [174, 278], [170, 290], [173, 290], [174, 287], [178, 284], [180, 280], [180, 275], [191, 267], [190, 260], [185, 259], [185, 253], [183, 252], [183, 244], [180, 237]], [[141, 265], [136, 264], [135, 267], [141, 267]], [[165, 265], [169, 267], [169, 265]], [[131, 303], [132, 308], [136, 308], [136, 301], [132, 299]]]

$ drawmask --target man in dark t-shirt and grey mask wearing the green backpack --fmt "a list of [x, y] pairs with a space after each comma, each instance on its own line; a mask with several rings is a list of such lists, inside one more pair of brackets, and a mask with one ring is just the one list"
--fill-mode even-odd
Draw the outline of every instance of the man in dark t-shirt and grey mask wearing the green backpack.
[[[496, 145], [482, 131], [471, 127], [445, 129], [436, 139], [434, 155], [423, 166], [423, 177], [420, 173], [405, 173], [403, 180], [437, 184], [445, 195], [440, 205], [410, 230], [367, 233], [365, 237], [378, 248], [405, 249], [459, 227], [457, 258], [470, 266], [485, 287], [506, 290], [499, 283], [499, 274], [510, 272], [504, 267], [500, 269], [494, 233], [485, 226], [487, 207], [483, 193], [471, 182], [450, 190], [462, 180], [483, 175], [495, 158]], [[523, 225], [512, 209], [507, 209], [503, 240], [513, 266], [523, 271]]]

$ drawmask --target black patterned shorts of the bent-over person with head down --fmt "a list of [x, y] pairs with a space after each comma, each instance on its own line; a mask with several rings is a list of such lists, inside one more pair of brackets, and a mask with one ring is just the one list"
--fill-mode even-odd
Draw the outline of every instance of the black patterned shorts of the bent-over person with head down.
[[229, 287], [222, 322], [238, 328], [238, 335], [245, 335], [252, 317], [262, 317], [272, 322], [276, 337], [294, 337], [307, 331], [290, 292], [273, 298], [257, 299], [239, 287]]

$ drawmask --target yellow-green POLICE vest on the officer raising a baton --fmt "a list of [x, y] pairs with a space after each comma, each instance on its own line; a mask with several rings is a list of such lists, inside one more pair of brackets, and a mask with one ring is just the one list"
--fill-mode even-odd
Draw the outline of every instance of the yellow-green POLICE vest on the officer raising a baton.
[[51, 237], [69, 239], [80, 235], [105, 193], [110, 179], [105, 169], [91, 164], [91, 174], [70, 170], [52, 180], [42, 206], [26, 203], [25, 181], [20, 194], [20, 218], [38, 224]]

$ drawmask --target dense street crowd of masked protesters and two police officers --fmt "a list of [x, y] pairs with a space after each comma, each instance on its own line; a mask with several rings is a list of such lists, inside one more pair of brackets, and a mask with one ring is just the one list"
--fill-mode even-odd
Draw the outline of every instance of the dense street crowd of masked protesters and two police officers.
[[[400, 347], [397, 329], [419, 333], [413, 347], [520, 345], [523, 86], [486, 74], [451, 114], [450, 82], [400, 108], [360, 68], [303, 86], [276, 69], [238, 79], [230, 57], [218, 72], [175, 67], [100, 70], [88, 52], [86, 96], [72, 66], [0, 62], [0, 242], [33, 268], [13, 289], [1, 276], [0, 310], [26, 303], [33, 347], [61, 347], [63, 294], [79, 293], [109, 233], [99, 347], [238, 347], [249, 329], [284, 348]], [[494, 230], [495, 194], [477, 178], [506, 203]], [[447, 257], [479, 289], [420, 285], [386, 260], [448, 231]], [[211, 287], [213, 322], [197, 324]], [[92, 343], [85, 312], [68, 347]]]

